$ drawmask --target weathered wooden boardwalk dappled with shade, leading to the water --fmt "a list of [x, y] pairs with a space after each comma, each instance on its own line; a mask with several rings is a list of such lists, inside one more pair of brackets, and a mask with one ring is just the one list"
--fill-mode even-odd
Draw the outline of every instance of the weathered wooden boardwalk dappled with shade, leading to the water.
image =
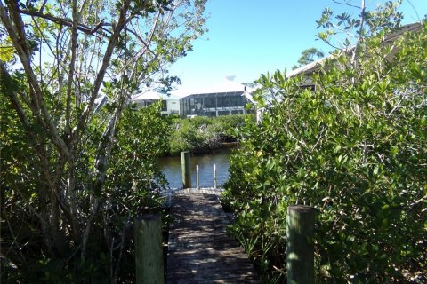
[[171, 194], [166, 283], [260, 283], [243, 248], [226, 232], [218, 190]]

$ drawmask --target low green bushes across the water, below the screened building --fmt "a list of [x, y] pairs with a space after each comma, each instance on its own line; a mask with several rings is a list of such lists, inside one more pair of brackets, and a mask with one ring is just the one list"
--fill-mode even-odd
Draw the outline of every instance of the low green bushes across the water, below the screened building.
[[172, 121], [170, 153], [181, 151], [205, 153], [221, 146], [227, 139], [236, 138], [235, 130], [253, 119], [251, 114], [218, 117], [196, 116]]

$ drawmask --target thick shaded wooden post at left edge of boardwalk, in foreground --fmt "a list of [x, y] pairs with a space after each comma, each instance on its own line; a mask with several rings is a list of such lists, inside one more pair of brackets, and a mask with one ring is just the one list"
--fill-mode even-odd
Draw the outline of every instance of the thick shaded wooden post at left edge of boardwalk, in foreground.
[[164, 284], [162, 220], [158, 214], [135, 218], [137, 284]]

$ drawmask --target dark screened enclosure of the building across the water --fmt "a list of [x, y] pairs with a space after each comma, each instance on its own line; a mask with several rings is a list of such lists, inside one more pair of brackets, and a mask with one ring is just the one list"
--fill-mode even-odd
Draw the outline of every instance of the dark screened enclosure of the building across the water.
[[245, 91], [223, 91], [192, 94], [180, 99], [181, 118], [246, 114]]

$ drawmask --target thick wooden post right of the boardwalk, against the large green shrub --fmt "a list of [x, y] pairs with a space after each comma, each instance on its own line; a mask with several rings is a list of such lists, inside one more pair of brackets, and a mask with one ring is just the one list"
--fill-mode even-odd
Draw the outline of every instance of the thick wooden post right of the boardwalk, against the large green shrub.
[[293, 205], [286, 217], [288, 284], [314, 283], [314, 214], [310, 206]]

